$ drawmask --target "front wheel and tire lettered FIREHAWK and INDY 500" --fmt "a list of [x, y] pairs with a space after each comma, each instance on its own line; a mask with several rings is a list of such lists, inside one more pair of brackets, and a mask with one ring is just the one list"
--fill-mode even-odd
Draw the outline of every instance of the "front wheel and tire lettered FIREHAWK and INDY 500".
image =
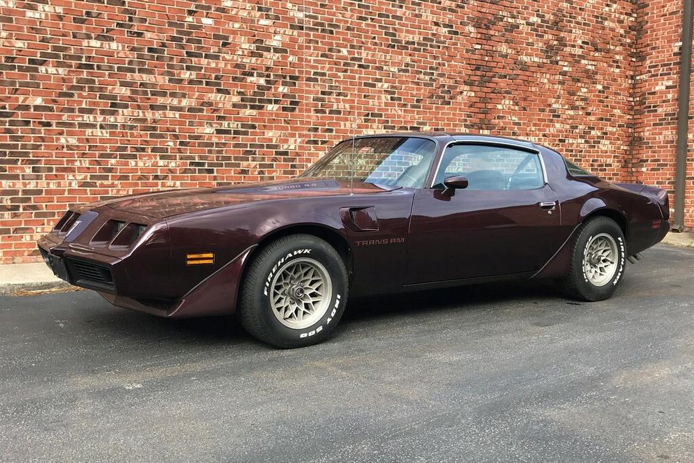
[[260, 249], [248, 264], [239, 316], [246, 331], [266, 344], [310, 346], [335, 329], [347, 291], [344, 262], [330, 244], [290, 235]]

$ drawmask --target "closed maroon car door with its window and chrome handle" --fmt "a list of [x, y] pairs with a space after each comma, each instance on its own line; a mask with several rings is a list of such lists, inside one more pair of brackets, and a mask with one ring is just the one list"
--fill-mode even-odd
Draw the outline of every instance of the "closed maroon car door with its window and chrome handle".
[[[450, 176], [468, 187], [444, 194]], [[536, 271], [561, 245], [557, 196], [537, 151], [450, 144], [433, 185], [414, 196], [406, 284]]]

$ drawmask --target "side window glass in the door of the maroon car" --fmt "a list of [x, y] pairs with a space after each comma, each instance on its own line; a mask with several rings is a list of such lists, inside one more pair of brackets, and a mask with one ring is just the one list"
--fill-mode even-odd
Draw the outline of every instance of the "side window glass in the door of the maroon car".
[[451, 176], [468, 179], [468, 190], [534, 190], [544, 185], [539, 155], [500, 146], [456, 144], [443, 153], [434, 187]]

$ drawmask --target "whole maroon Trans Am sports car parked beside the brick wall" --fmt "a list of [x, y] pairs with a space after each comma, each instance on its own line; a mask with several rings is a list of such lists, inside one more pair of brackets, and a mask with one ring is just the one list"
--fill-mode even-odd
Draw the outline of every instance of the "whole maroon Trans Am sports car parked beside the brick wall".
[[611, 296], [668, 232], [668, 195], [556, 151], [455, 133], [346, 140], [291, 180], [71, 208], [38, 242], [53, 272], [162, 317], [239, 312], [268, 344], [325, 339], [347, 296], [552, 278]]

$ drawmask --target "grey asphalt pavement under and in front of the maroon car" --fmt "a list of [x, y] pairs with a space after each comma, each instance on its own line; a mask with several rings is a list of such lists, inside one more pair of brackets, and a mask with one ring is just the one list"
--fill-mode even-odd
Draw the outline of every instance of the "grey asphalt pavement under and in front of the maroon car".
[[355, 301], [290, 351], [233, 317], [0, 296], [0, 460], [692, 462], [694, 250], [643, 255], [609, 301]]

